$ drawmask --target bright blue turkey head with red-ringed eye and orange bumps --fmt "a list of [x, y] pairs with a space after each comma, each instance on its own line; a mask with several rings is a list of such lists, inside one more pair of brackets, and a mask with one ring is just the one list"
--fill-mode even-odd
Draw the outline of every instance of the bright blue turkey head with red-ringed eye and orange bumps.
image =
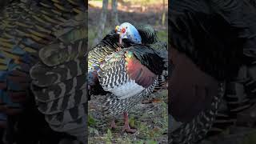
[[124, 22], [122, 25], [116, 26], [115, 31], [119, 34], [119, 43], [122, 43], [123, 38], [127, 38], [136, 44], [142, 43], [142, 38], [138, 30], [129, 22]]

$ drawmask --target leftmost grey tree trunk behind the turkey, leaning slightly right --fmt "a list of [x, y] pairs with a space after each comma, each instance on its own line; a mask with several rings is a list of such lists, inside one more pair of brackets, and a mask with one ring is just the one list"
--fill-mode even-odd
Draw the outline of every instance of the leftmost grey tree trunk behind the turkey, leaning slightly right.
[[100, 40], [102, 39], [102, 34], [105, 28], [105, 23], [106, 23], [106, 13], [107, 13], [107, 6], [108, 6], [109, 1], [108, 0], [103, 0], [102, 1], [102, 14], [101, 14], [101, 18], [98, 22], [98, 26], [97, 29], [98, 30], [96, 32], [96, 38], [94, 39], [94, 43], [93, 46], [97, 45], [98, 42], [100, 42]]

